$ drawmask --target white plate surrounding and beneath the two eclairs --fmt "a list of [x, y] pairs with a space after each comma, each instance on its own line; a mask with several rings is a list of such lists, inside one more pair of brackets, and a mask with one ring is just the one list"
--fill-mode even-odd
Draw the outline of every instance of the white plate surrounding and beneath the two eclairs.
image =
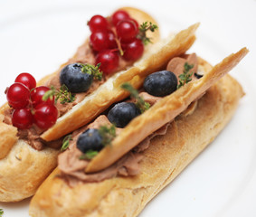
[[[157, 5], [156, 5], [157, 2]], [[56, 70], [89, 34], [93, 14], [108, 15], [124, 1], [1, 1], [0, 103], [5, 87], [17, 74], [28, 71], [36, 80]], [[221, 135], [147, 205], [140, 217], [255, 216], [255, 24], [256, 2], [129, 1], [156, 17], [163, 35], [201, 22], [197, 52], [211, 63], [247, 46], [251, 52], [233, 70], [246, 96]], [[253, 60], [254, 59], [254, 60]], [[0, 203], [4, 216], [27, 217], [29, 199]]]

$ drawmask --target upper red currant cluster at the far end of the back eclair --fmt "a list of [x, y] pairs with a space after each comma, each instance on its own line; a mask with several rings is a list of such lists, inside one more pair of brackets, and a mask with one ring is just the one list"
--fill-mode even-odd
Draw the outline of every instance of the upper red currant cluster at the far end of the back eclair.
[[143, 42], [137, 39], [139, 32], [137, 21], [126, 11], [119, 10], [109, 18], [94, 15], [88, 22], [90, 27], [90, 45], [97, 52], [96, 64], [106, 74], [119, 67], [119, 50], [126, 61], [137, 61], [144, 51]]

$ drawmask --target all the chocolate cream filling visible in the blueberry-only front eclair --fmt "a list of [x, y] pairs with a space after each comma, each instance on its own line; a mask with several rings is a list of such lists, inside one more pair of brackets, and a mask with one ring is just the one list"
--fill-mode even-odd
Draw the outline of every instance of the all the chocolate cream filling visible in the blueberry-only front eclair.
[[[185, 62], [194, 64], [192, 71], [197, 71], [197, 57], [195, 53], [172, 59], [169, 61], [166, 70], [173, 71], [178, 77], [183, 73]], [[197, 79], [196, 76], [193, 76], [193, 80], [195, 79]], [[143, 99], [147, 101], [151, 106], [153, 106], [158, 100], [162, 99], [160, 97], [152, 96], [145, 91], [141, 91], [139, 95], [143, 97]], [[191, 103], [188, 109], [186, 109], [181, 115], [187, 116], [193, 114], [194, 109], [196, 109], [196, 102], [197, 101]], [[143, 158], [143, 151], [147, 150], [148, 146], [150, 146], [150, 141], [154, 137], [166, 134], [169, 124], [170, 122], [156, 130], [156, 132], [153, 134], [146, 137], [135, 148], [129, 151], [128, 154], [122, 156], [115, 164], [110, 165], [108, 168], [101, 170], [100, 172], [94, 174], [86, 174], [84, 171], [90, 161], [80, 159], [82, 153], [76, 147], [76, 142], [81, 133], [86, 129], [99, 128], [102, 125], [110, 125], [109, 119], [105, 115], [101, 115], [99, 118], [96, 118], [96, 120], [90, 125], [82, 127], [81, 129], [73, 132], [73, 140], [71, 141], [69, 149], [63, 152], [58, 158], [59, 168], [62, 172], [61, 176], [67, 181], [68, 184], [73, 186], [79, 182], [100, 182], [118, 175], [137, 175], [139, 173], [139, 162]], [[122, 128], [117, 128], [117, 136], [121, 130]]]

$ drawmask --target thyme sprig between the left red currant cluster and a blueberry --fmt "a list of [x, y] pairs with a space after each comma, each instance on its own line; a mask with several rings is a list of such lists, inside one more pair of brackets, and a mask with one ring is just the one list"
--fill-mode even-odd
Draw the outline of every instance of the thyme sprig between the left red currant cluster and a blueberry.
[[58, 99], [60, 99], [61, 104], [73, 102], [76, 98], [75, 95], [69, 91], [65, 84], [62, 85], [60, 90], [56, 90], [53, 86], [51, 90], [48, 90], [43, 95], [43, 101], [47, 99], [53, 99], [55, 97], [55, 103], [57, 103]]

